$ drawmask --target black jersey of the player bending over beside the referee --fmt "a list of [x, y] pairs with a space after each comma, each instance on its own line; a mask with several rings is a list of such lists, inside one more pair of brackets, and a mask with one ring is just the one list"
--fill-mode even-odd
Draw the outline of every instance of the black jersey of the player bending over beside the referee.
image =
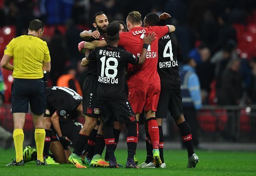
[[82, 102], [82, 97], [71, 88], [48, 87], [46, 88], [47, 103], [56, 109], [59, 117], [76, 118], [76, 109]]

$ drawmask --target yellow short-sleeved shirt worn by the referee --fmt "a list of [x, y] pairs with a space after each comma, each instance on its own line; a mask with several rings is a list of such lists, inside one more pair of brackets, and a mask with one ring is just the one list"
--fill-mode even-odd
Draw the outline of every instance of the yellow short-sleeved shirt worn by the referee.
[[47, 43], [33, 35], [23, 35], [12, 39], [4, 50], [13, 56], [14, 78], [43, 78], [43, 62], [50, 62]]

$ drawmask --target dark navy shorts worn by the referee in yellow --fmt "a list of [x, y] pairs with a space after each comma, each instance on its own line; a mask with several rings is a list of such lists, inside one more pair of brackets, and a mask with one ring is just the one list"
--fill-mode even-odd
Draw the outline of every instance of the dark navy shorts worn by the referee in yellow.
[[45, 112], [46, 97], [44, 79], [14, 79], [12, 83], [12, 113], [28, 113], [28, 102], [31, 112]]

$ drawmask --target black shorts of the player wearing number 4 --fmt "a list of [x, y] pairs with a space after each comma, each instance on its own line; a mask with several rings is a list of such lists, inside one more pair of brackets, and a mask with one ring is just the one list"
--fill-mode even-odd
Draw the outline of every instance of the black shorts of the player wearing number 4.
[[181, 90], [161, 89], [156, 118], [166, 118], [168, 110], [174, 118], [183, 114]]

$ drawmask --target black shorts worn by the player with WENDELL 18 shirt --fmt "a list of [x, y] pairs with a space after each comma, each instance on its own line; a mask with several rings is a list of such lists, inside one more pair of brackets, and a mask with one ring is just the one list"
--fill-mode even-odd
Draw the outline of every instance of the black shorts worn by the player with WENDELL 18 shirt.
[[100, 115], [103, 123], [106, 123], [109, 119], [114, 121], [116, 117], [120, 124], [136, 122], [136, 117], [131, 105], [128, 100], [125, 101], [103, 101], [99, 100], [100, 103]]

